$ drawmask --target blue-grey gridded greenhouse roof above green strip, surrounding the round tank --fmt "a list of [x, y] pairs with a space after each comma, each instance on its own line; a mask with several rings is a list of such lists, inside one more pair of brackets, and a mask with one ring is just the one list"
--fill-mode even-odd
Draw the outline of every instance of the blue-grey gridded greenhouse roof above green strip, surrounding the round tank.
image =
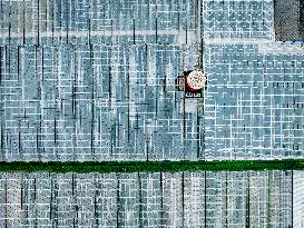
[[2, 1], [0, 159], [302, 157], [304, 51], [274, 2], [199, 2]]

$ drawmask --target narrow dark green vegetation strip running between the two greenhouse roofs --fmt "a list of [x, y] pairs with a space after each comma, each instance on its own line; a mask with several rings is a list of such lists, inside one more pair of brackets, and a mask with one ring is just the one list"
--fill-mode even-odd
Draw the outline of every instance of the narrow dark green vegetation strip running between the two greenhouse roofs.
[[288, 160], [197, 160], [197, 161], [12, 161], [0, 162], [6, 172], [177, 172], [177, 171], [246, 171], [304, 169], [304, 159]]

